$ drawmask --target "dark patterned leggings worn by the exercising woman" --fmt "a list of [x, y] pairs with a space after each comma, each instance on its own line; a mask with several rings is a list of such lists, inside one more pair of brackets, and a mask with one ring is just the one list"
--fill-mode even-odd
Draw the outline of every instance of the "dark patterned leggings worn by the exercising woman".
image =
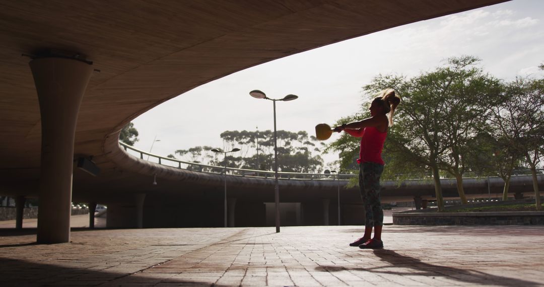
[[380, 202], [380, 176], [384, 166], [376, 163], [361, 163], [359, 167], [359, 189], [364, 203], [364, 225], [384, 225], [384, 210]]

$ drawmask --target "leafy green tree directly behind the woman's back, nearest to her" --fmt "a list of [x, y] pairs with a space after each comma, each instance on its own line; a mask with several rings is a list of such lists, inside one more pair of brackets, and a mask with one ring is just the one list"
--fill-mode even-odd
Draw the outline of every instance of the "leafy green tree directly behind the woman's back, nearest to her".
[[403, 99], [395, 115], [395, 124], [387, 135], [387, 152], [401, 159], [401, 162], [431, 170], [438, 210], [442, 211], [444, 203], [439, 163], [440, 157], [449, 148], [449, 139], [443, 136], [447, 124], [442, 121], [442, 111], [448, 103], [446, 97], [428, 86], [432, 76], [422, 74], [406, 80], [401, 76], [379, 75], [363, 89], [373, 94], [391, 87]]

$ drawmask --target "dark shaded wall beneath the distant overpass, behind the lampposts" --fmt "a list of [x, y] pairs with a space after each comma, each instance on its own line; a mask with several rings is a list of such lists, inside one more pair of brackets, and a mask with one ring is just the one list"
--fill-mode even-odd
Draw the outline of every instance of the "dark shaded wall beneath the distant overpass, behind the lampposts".
[[[336, 198], [331, 198], [328, 210], [329, 225], [338, 224]], [[321, 226], [325, 224], [323, 199], [306, 202], [280, 203], [281, 226]], [[275, 204], [273, 202], [237, 200], [234, 208], [235, 227], [275, 226]], [[364, 211], [360, 204], [343, 204], [342, 224], [361, 224]], [[230, 211], [229, 211], [230, 212]], [[108, 203], [108, 228], [135, 228], [137, 210], [133, 203]], [[223, 199], [163, 201], [149, 198], [144, 202], [143, 227], [223, 227]]]

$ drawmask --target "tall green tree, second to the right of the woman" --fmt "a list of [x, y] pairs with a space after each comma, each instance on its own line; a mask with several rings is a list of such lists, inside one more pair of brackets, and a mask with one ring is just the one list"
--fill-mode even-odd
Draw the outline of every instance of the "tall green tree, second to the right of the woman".
[[489, 110], [500, 94], [499, 81], [475, 67], [479, 61], [471, 56], [449, 58], [447, 66], [419, 77], [429, 92], [446, 98], [440, 115], [446, 126], [440, 136], [448, 139], [448, 148], [438, 157], [438, 166], [455, 177], [463, 204], [468, 203], [463, 174], [471, 169], [467, 160], [477, 148], [473, 139], [487, 129]]

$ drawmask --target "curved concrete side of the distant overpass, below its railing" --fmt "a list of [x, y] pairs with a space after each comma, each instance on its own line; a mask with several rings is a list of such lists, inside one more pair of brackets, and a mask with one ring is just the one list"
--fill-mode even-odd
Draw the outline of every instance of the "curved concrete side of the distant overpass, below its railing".
[[[135, 158], [121, 148], [112, 149], [108, 158], [114, 163], [123, 166], [123, 169], [140, 176], [138, 184], [131, 184], [134, 191], [145, 191], [148, 195], [168, 194], [169, 198], [183, 197], [200, 198], [214, 197], [223, 191], [224, 177], [220, 174], [203, 173], [188, 170], [180, 170], [175, 167], [158, 165], [149, 161]], [[153, 178], [150, 174], [157, 174], [159, 186], [152, 186]], [[271, 202], [274, 199], [274, 178], [227, 176], [228, 196], [233, 198], [252, 199], [254, 201]], [[544, 188], [544, 175], [539, 174], [537, 181], [541, 189]], [[340, 185], [342, 202], [353, 203], [360, 201], [360, 192], [357, 186], [348, 188], [348, 181], [341, 180], [338, 183], [331, 179], [280, 179], [280, 192], [282, 202], [299, 202], [313, 198], [336, 198], [338, 185]], [[458, 199], [457, 182], [454, 178], [441, 179], [442, 194], [446, 199]], [[180, 189], [181, 188], [181, 189]], [[431, 179], [413, 179], [402, 182], [394, 180], [381, 181], [380, 197], [384, 202], [411, 201], [415, 196], [423, 199], [436, 199], [435, 184]], [[465, 178], [463, 188], [469, 198], [501, 197], [504, 181], [501, 178]], [[510, 180], [510, 196], [515, 192], [533, 192], [532, 178], [530, 175], [514, 176]]]

